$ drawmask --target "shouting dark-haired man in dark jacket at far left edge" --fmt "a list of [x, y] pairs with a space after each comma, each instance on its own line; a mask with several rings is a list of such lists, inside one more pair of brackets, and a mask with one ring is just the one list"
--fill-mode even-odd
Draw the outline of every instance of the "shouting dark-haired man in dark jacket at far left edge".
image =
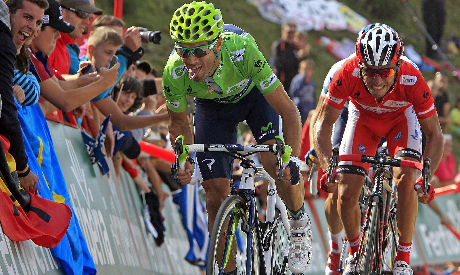
[[[36, 188], [37, 176], [30, 171], [25, 154], [21, 125], [17, 119], [17, 108], [13, 96], [13, 69], [17, 52], [30, 35], [40, 28], [43, 13], [48, 7], [46, 0], [7, 0], [0, 1], [0, 89], [1, 120], [0, 134], [11, 143], [9, 153], [16, 160], [16, 170], [22, 187], [26, 190]], [[27, 15], [27, 18], [25, 18]], [[30, 19], [30, 20], [28, 20]]]

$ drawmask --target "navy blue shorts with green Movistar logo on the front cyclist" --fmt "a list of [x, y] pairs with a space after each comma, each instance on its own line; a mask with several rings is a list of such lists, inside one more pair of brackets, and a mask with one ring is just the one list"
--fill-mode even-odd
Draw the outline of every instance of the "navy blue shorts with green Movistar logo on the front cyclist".
[[[236, 143], [238, 123], [246, 120], [257, 143], [282, 137], [281, 117], [254, 87], [236, 103], [218, 103], [195, 98], [195, 143]], [[223, 152], [196, 153], [198, 179], [229, 178], [232, 158]]]

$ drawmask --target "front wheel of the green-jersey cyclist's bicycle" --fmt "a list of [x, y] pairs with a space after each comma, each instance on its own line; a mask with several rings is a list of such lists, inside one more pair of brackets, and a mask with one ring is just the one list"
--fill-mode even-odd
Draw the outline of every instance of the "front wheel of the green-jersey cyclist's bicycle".
[[[207, 275], [218, 275], [234, 270], [238, 275], [259, 275], [259, 241], [253, 230], [251, 244], [247, 243], [247, 234], [240, 230], [243, 223], [248, 224], [248, 210], [245, 201], [239, 195], [230, 195], [225, 199], [214, 220], [207, 257]], [[256, 218], [257, 221], [257, 218]], [[252, 245], [252, 264], [246, 270], [246, 247]]]

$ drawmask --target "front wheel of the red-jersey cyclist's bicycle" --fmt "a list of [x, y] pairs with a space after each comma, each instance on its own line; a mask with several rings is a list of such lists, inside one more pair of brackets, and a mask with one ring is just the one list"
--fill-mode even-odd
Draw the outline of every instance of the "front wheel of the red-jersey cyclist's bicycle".
[[378, 228], [380, 226], [380, 210], [379, 210], [379, 197], [374, 196], [372, 203], [369, 206], [368, 219], [367, 219], [367, 229], [365, 229], [364, 236], [361, 241], [361, 257], [358, 261], [358, 269], [362, 270], [362, 274], [370, 274], [372, 271], [375, 271], [376, 263], [375, 260], [376, 252], [378, 251]]

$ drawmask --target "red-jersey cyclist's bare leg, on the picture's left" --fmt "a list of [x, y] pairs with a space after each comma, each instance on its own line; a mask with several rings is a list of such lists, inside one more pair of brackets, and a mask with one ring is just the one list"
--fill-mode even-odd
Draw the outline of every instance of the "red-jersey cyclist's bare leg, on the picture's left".
[[359, 225], [361, 223], [361, 210], [358, 199], [361, 194], [364, 177], [357, 174], [342, 174], [339, 183], [339, 198], [337, 209], [345, 229], [345, 235], [350, 243], [350, 253], [353, 255], [359, 248]]

